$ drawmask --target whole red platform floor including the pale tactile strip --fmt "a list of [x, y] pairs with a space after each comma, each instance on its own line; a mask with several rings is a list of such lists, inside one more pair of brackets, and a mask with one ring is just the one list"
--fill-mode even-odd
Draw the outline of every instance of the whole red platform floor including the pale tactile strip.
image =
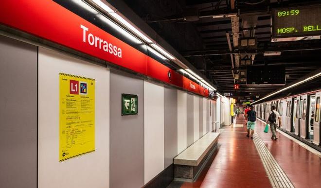
[[249, 139], [240, 115], [221, 130], [218, 149], [197, 181], [172, 182], [169, 188], [320, 188], [321, 158], [279, 132], [272, 140], [264, 128], [257, 120], [257, 134]]

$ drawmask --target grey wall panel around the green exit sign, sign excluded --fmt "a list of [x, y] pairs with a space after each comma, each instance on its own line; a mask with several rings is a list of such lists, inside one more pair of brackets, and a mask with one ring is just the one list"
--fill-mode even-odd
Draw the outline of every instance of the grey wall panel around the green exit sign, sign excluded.
[[[144, 185], [143, 80], [110, 71], [110, 187]], [[122, 93], [138, 95], [138, 115], [122, 116]]]

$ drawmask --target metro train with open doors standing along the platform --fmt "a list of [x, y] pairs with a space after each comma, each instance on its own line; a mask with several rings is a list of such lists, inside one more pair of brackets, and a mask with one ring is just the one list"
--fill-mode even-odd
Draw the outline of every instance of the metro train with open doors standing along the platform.
[[282, 120], [282, 127], [277, 122], [281, 130], [299, 139], [302, 138], [313, 145], [321, 146], [320, 102], [321, 90], [316, 90], [254, 104], [253, 106], [257, 117], [261, 120], [267, 120], [272, 105], [275, 105]]

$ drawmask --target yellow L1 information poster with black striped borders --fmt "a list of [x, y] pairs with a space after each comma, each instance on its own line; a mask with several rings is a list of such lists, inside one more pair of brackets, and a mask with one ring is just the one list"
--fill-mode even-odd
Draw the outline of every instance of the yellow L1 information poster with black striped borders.
[[95, 151], [95, 80], [59, 73], [59, 162]]

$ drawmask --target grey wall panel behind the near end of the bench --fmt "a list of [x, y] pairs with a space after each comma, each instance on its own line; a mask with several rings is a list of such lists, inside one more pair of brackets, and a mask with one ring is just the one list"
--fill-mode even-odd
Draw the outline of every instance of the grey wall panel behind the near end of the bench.
[[164, 87], [164, 168], [177, 155], [177, 89]]

